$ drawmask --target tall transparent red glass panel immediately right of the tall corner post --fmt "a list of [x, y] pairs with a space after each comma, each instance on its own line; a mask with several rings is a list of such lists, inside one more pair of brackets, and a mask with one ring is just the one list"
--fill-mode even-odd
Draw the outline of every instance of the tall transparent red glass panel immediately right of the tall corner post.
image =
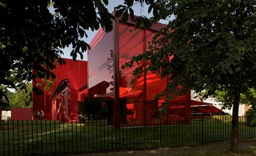
[[129, 69], [121, 69], [121, 66], [134, 56], [141, 54], [143, 52], [143, 44], [142, 29], [134, 30], [134, 26], [119, 25], [120, 97], [126, 98], [131, 118], [138, 119], [143, 117], [144, 76], [134, 84], [131, 84], [132, 73], [138, 65]]

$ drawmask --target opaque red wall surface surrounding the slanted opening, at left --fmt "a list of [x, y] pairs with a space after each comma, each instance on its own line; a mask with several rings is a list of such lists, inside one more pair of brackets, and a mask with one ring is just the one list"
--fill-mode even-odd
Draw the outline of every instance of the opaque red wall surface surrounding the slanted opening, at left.
[[[56, 79], [53, 80], [54, 85], [51, 87], [51, 92], [44, 91], [44, 95], [36, 95], [33, 92], [33, 114], [36, 111], [44, 111], [46, 119], [52, 119], [52, 106], [50, 96], [63, 79], [70, 81], [70, 103], [71, 112], [77, 113], [77, 101], [78, 101], [78, 88], [87, 83], [87, 61], [73, 61], [72, 59], [64, 58], [65, 64], [57, 64], [57, 68], [53, 70], [56, 75]], [[38, 83], [41, 80], [36, 80]], [[35, 84], [33, 83], [33, 87]], [[42, 90], [44, 87], [39, 87]]]

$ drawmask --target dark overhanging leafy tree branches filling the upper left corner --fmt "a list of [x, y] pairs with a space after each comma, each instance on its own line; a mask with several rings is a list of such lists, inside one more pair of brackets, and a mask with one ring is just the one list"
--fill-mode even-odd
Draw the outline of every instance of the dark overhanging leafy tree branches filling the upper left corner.
[[[128, 18], [128, 10], [138, 25], [149, 25], [146, 17], [134, 19], [133, 2], [146, 2], [151, 5], [151, 11], [159, 18], [159, 7], [155, 1], [125, 0], [118, 6], [120, 13], [124, 12], [124, 20]], [[73, 60], [77, 55], [83, 59], [83, 53], [89, 49], [83, 41], [88, 29], [104, 28], [109, 32], [113, 28], [115, 17], [106, 9], [108, 0], [86, 1], [0, 1], [0, 85], [7, 88], [26, 88], [31, 80], [54, 79], [51, 72], [54, 61], [65, 63], [60, 57], [62, 49], [72, 46], [70, 55]], [[52, 11], [50, 11], [52, 10]], [[150, 12], [151, 12], [150, 11]], [[117, 14], [117, 15], [118, 15]], [[37, 87], [37, 94], [43, 93]], [[0, 90], [0, 104], [7, 96]]]

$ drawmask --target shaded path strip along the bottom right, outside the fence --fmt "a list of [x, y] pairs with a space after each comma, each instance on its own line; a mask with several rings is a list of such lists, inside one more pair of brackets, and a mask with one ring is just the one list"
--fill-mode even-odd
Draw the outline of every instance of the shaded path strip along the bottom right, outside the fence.
[[229, 143], [214, 143], [204, 146], [194, 147], [167, 147], [152, 150], [123, 150], [109, 151], [103, 153], [80, 154], [80, 156], [144, 156], [144, 155], [255, 155], [256, 156], [256, 141], [239, 143], [239, 153], [233, 154], [229, 152]]

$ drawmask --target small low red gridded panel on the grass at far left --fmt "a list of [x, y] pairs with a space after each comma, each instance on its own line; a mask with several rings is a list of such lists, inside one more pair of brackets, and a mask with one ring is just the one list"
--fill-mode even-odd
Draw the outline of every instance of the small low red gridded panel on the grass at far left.
[[31, 108], [12, 108], [12, 120], [32, 120]]

